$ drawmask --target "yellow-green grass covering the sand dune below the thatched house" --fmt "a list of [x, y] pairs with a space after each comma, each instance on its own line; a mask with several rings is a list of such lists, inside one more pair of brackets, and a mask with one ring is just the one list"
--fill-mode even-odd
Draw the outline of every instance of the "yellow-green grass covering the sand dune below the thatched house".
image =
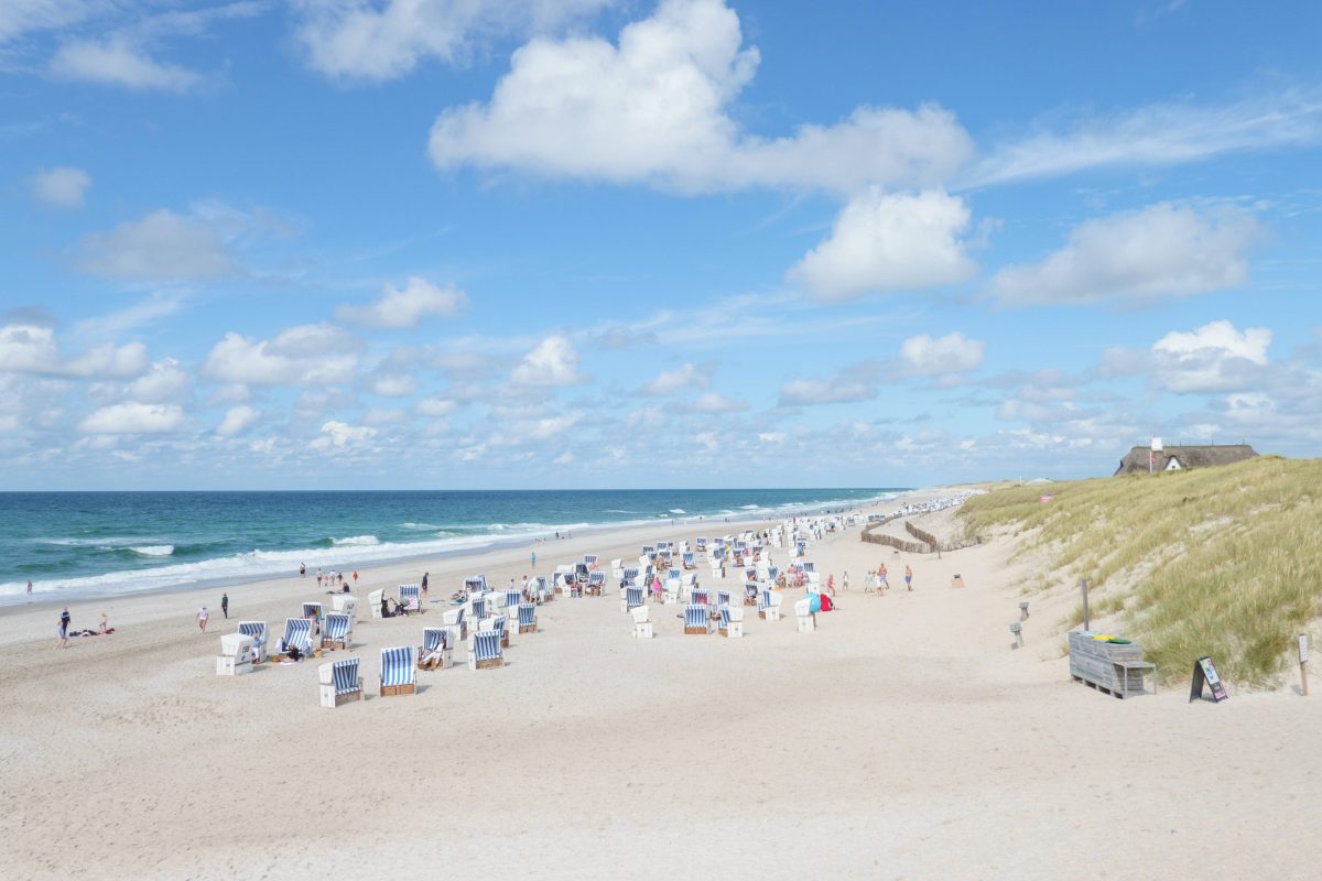
[[1095, 614], [1118, 613], [1166, 680], [1210, 654], [1239, 686], [1277, 686], [1322, 618], [1322, 460], [1017, 486], [961, 516], [1029, 534], [1019, 553], [1043, 553], [1071, 589], [1088, 579]]

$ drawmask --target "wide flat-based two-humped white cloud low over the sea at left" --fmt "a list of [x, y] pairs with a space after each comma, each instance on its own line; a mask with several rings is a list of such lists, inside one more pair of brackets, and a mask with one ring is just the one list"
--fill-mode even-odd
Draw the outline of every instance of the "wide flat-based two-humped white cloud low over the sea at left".
[[212, 347], [202, 372], [251, 386], [329, 386], [353, 378], [357, 349], [356, 337], [324, 324], [288, 328], [258, 342], [231, 332]]

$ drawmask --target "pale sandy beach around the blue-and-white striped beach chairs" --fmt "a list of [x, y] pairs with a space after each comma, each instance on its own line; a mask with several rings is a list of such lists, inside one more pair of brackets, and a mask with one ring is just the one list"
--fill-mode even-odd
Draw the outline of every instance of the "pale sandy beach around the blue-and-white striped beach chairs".
[[[698, 534], [549, 543], [539, 572]], [[804, 635], [788, 614], [750, 616], [743, 641], [685, 637], [678, 609], [653, 606], [657, 638], [635, 641], [613, 589], [561, 598], [505, 668], [472, 672], [460, 650], [412, 697], [375, 696], [378, 649], [416, 645], [444, 606], [362, 610], [369, 697], [334, 711], [317, 662], [214, 675], [233, 630], [219, 589], [79, 604], [75, 626], [106, 610], [120, 631], [66, 651], [58, 609], [11, 612], [0, 877], [1318, 877], [1322, 696], [1190, 705], [1187, 688], [1118, 701], [1071, 683], [1066, 609], [1034, 606], [1009, 650], [1011, 549], [936, 560], [833, 536], [809, 559], [851, 590]], [[892, 589], [865, 596], [879, 561]], [[423, 568], [362, 569], [358, 594]], [[426, 568], [432, 598], [473, 572], [502, 586], [527, 549]], [[231, 618], [276, 637], [325, 598], [312, 579], [229, 596]]]

